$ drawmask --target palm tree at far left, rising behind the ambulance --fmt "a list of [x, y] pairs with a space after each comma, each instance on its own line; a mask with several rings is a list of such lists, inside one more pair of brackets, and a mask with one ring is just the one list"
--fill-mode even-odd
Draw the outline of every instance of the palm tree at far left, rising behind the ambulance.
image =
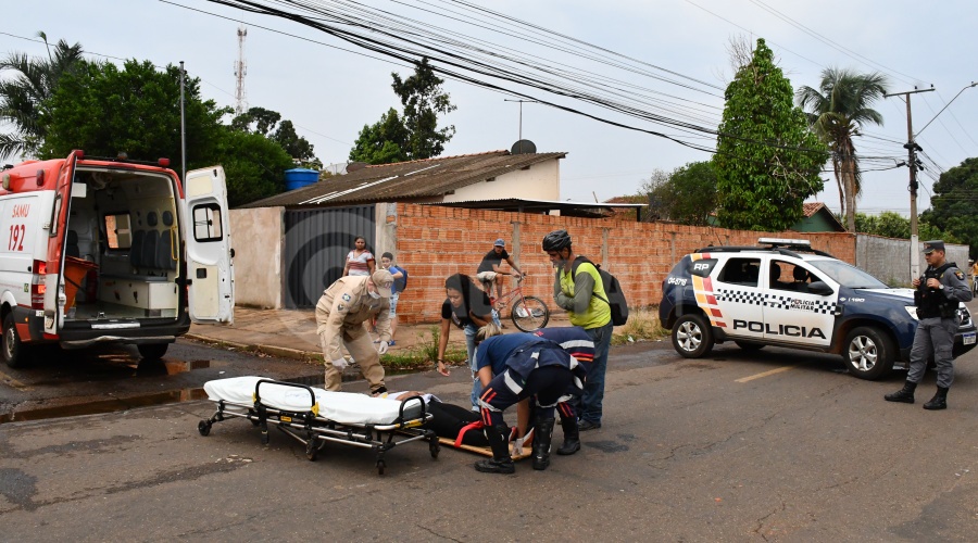
[[45, 141], [45, 126], [40, 121], [43, 101], [51, 97], [61, 76], [79, 65], [82, 45], [68, 46], [60, 40], [53, 48], [45, 33], [38, 33], [48, 48], [48, 58], [30, 59], [12, 52], [0, 59], [0, 73], [15, 75], [0, 81], [0, 124], [10, 124], [11, 134], [0, 134], [0, 159], [17, 154], [33, 154]]

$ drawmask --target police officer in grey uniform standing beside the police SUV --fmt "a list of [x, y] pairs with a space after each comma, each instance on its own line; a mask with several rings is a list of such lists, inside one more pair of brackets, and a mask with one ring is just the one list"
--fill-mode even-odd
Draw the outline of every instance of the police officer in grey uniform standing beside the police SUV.
[[933, 354], [938, 370], [938, 391], [924, 404], [925, 409], [946, 409], [948, 389], [954, 380], [954, 336], [957, 333], [958, 302], [971, 300], [964, 273], [944, 260], [944, 242], [924, 242], [927, 269], [914, 279], [914, 305], [917, 306], [917, 331], [911, 349], [911, 368], [903, 388], [887, 394], [888, 402], [914, 403], [914, 390], [924, 378], [927, 358]]

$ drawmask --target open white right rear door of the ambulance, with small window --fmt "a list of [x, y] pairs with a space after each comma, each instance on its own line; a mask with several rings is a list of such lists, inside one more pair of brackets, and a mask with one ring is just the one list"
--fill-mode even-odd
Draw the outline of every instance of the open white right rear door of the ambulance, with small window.
[[227, 216], [224, 168], [187, 172], [184, 181], [184, 240], [190, 320], [235, 321], [235, 267]]

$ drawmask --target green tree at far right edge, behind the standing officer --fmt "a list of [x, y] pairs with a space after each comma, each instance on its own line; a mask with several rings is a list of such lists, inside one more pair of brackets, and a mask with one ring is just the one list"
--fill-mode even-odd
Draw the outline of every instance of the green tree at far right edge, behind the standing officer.
[[970, 245], [970, 257], [978, 260], [978, 159], [965, 159], [941, 174], [932, 191], [930, 209], [920, 214], [921, 220], [956, 236]]

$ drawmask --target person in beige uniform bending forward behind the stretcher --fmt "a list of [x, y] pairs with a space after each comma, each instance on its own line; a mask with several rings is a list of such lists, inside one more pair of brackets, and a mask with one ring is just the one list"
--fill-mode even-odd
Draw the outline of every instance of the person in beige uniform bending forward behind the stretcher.
[[[371, 386], [371, 393], [387, 392], [380, 355], [390, 341], [390, 272], [379, 269], [368, 276], [347, 276], [329, 286], [316, 304], [316, 333], [326, 361], [326, 390], [338, 391], [342, 370], [347, 367], [343, 346], [360, 364], [360, 371]], [[374, 350], [363, 324], [377, 319], [380, 343]]]

